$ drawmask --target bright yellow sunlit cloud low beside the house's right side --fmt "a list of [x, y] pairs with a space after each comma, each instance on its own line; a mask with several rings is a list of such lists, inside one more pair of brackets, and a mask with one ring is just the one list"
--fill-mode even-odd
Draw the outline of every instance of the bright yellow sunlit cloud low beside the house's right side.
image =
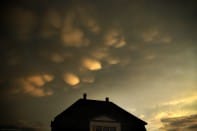
[[[182, 97], [179, 96], [176, 99], [160, 102], [152, 107], [149, 112], [145, 113], [148, 115], [148, 117], [146, 116], [149, 122], [148, 128], [150, 130], [158, 130], [163, 124], [168, 124], [163, 122], [165, 119], [181, 118], [196, 114], [196, 100], [196, 93], [190, 92]], [[168, 130], [167, 125], [165, 125], [164, 130]], [[175, 130], [178, 130], [178, 126]]]

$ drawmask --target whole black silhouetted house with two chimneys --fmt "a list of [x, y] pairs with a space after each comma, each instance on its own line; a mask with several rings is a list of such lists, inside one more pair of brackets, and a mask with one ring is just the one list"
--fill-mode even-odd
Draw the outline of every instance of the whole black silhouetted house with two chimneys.
[[147, 123], [106, 101], [79, 99], [51, 122], [52, 131], [146, 131]]

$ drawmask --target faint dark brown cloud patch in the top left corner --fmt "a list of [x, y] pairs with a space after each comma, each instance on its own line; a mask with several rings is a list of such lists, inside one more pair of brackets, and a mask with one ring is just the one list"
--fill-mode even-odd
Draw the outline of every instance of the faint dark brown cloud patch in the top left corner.
[[6, 11], [7, 17], [4, 20], [13, 36], [20, 40], [28, 40], [37, 25], [36, 14], [32, 10], [20, 7], [8, 8]]

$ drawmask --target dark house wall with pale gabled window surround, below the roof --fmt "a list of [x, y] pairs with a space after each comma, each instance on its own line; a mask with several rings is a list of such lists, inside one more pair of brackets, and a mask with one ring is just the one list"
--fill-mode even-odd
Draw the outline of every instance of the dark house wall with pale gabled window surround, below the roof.
[[71, 121], [51, 123], [51, 131], [94, 131], [94, 126], [116, 127], [116, 131], [146, 131], [145, 126], [136, 123], [120, 123], [107, 116], [99, 116], [90, 121], [79, 120], [72, 125]]

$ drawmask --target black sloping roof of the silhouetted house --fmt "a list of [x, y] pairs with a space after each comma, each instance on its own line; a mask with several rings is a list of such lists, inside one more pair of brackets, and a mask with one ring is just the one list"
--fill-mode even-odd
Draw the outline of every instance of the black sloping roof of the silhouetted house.
[[113, 102], [108, 101], [108, 99], [106, 99], [106, 101], [79, 99], [65, 111], [57, 115], [54, 122], [62, 120], [69, 122], [73, 120], [91, 120], [101, 115], [106, 115], [124, 123], [147, 124], [145, 121], [125, 111]]

